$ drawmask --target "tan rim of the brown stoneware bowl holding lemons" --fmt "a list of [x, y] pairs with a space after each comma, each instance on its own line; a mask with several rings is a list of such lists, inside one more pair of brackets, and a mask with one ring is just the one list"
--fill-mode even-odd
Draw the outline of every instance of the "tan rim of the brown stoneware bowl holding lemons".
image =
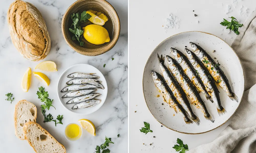
[[[68, 21], [68, 18], [69, 18], [69, 14], [71, 13], [70, 12], [70, 9], [74, 6], [74, 5], [77, 5], [81, 2], [84, 2], [84, 1], [87, 1], [87, 0], [77, 0], [76, 2], [74, 2], [73, 4], [71, 4], [68, 9], [66, 10], [66, 12], [64, 13], [63, 17], [62, 17], [62, 21], [61, 21], [61, 30], [62, 30], [62, 35], [66, 41], [66, 43], [68, 44], [68, 46], [70, 48], [72, 48], [74, 51], [76, 51], [77, 53], [81, 54], [83, 53], [82, 55], [85, 55], [85, 56], [98, 56], [98, 55], [101, 55], [101, 54], [104, 54], [106, 52], [108, 52], [109, 50], [111, 50], [115, 44], [117, 43], [118, 39], [119, 39], [119, 36], [120, 36], [120, 30], [121, 30], [121, 25], [120, 25], [120, 18], [115, 10], [115, 8], [106, 0], [101, 0], [102, 2], [106, 3], [106, 5], [109, 5], [111, 8], [112, 8], [112, 11], [113, 13], [117, 16], [117, 23], [113, 23], [113, 25], [116, 25], [116, 29], [117, 29], [117, 32], [115, 34], [115, 36], [117, 35], [117, 37], [115, 39], [113, 39], [110, 43], [110, 47], [105, 49], [103, 52], [101, 50], [101, 48], [99, 48], [99, 50], [101, 51], [97, 51], [97, 52], [94, 52], [93, 55], [92, 54], [89, 54], [89, 52], [87, 51], [84, 51], [84, 50], [80, 50], [80, 49], [77, 49], [72, 43], [70, 43], [68, 41], [68, 35], [66, 34], [65, 32], [65, 28], [64, 27], [64, 22], [67, 22]], [[98, 0], [91, 0], [91, 1], [95, 1], [95, 2], [98, 2]], [[90, 50], [90, 49], [88, 49]]]

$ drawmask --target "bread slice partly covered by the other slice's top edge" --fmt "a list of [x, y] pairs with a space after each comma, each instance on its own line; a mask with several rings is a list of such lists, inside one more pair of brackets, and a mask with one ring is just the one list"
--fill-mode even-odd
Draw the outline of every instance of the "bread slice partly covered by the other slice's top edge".
[[14, 111], [14, 127], [15, 135], [21, 139], [25, 139], [25, 134], [23, 131], [23, 126], [26, 122], [33, 121], [36, 122], [37, 109], [36, 106], [27, 100], [20, 100], [15, 105]]

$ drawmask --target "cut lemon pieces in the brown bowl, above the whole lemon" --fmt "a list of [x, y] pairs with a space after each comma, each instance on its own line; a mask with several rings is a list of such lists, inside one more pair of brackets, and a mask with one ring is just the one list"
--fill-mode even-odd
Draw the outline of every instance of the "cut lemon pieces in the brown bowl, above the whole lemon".
[[[97, 12], [97, 11], [96, 11]], [[108, 21], [108, 17], [106, 17], [104, 14], [102, 14], [101, 12], [97, 12], [96, 14], [101, 15], [97, 16], [95, 14], [95, 11], [93, 10], [88, 10], [86, 11], [86, 13], [90, 14], [92, 17], [90, 17], [90, 19], [88, 19], [89, 21], [91, 21], [93, 24], [97, 24], [97, 25], [104, 25], [106, 21]], [[104, 17], [103, 17], [104, 16]]]

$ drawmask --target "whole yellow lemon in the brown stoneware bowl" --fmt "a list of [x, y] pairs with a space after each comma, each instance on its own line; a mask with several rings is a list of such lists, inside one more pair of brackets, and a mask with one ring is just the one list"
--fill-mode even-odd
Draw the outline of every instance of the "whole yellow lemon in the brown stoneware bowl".
[[101, 45], [110, 41], [109, 32], [102, 26], [90, 24], [83, 28], [83, 37], [89, 43]]

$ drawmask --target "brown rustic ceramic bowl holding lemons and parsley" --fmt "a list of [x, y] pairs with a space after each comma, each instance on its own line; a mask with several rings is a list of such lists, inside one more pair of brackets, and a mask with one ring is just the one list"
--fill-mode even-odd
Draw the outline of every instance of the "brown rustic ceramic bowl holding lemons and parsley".
[[[110, 42], [102, 45], [94, 45], [87, 42], [83, 37], [84, 46], [80, 46], [78, 41], [73, 41], [73, 34], [69, 31], [72, 24], [70, 15], [73, 13], [81, 13], [86, 10], [97, 10], [106, 15], [109, 20], [103, 25], [109, 32]], [[85, 27], [88, 23], [81, 24], [81, 27]], [[67, 44], [76, 52], [86, 56], [97, 56], [108, 52], [112, 49], [118, 41], [120, 34], [120, 20], [118, 14], [111, 4], [105, 0], [78, 0], [74, 2], [63, 15], [61, 23], [62, 34]]]

